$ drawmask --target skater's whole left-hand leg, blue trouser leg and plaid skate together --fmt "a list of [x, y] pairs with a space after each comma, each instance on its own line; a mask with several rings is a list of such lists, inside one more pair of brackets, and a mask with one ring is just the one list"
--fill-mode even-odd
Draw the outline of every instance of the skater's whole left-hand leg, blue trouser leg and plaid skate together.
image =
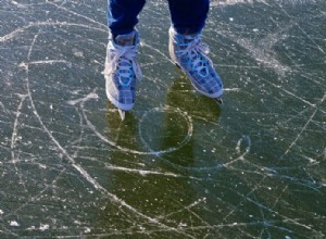
[[108, 24], [110, 28], [105, 58], [105, 91], [124, 118], [124, 112], [131, 110], [136, 100], [136, 80], [141, 71], [136, 61], [139, 45], [135, 29], [138, 14], [146, 0], [109, 0]]

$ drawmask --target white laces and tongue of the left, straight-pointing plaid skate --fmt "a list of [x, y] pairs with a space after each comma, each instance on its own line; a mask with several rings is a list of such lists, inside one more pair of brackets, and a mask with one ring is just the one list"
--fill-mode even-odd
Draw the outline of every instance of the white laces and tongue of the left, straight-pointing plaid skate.
[[[141, 80], [141, 71], [136, 62], [137, 50], [135, 47], [115, 47], [110, 49], [111, 53], [114, 55], [110, 61], [110, 64], [105, 65], [103, 72], [104, 75], [110, 75], [116, 71], [118, 83], [124, 86], [130, 86], [134, 76], [136, 79]], [[124, 79], [128, 79], [125, 81]]]

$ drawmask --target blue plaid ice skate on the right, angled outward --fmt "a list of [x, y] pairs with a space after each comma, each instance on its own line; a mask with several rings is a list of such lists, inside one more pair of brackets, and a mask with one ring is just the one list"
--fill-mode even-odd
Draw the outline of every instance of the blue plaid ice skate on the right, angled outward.
[[201, 42], [200, 34], [181, 35], [170, 28], [170, 55], [189, 77], [200, 93], [222, 103], [223, 83], [206, 55], [209, 47]]

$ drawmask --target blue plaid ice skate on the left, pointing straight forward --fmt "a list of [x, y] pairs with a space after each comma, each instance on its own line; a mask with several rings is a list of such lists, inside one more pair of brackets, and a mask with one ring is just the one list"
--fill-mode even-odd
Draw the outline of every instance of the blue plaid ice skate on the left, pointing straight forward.
[[136, 30], [115, 38], [110, 34], [104, 68], [106, 97], [120, 112], [131, 110], [136, 98], [136, 79], [141, 79], [141, 71], [136, 62], [139, 37]]

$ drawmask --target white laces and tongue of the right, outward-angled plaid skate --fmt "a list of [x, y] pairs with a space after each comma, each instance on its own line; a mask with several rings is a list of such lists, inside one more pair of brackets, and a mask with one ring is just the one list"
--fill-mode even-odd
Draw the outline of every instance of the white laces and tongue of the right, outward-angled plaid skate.
[[[180, 45], [181, 50], [177, 51], [179, 56], [187, 55], [190, 66], [201, 77], [206, 77], [210, 74], [209, 64], [211, 63], [204, 54], [210, 52], [209, 46], [202, 43], [200, 36], [185, 37], [186, 43]], [[183, 49], [184, 48], [184, 49]]]

